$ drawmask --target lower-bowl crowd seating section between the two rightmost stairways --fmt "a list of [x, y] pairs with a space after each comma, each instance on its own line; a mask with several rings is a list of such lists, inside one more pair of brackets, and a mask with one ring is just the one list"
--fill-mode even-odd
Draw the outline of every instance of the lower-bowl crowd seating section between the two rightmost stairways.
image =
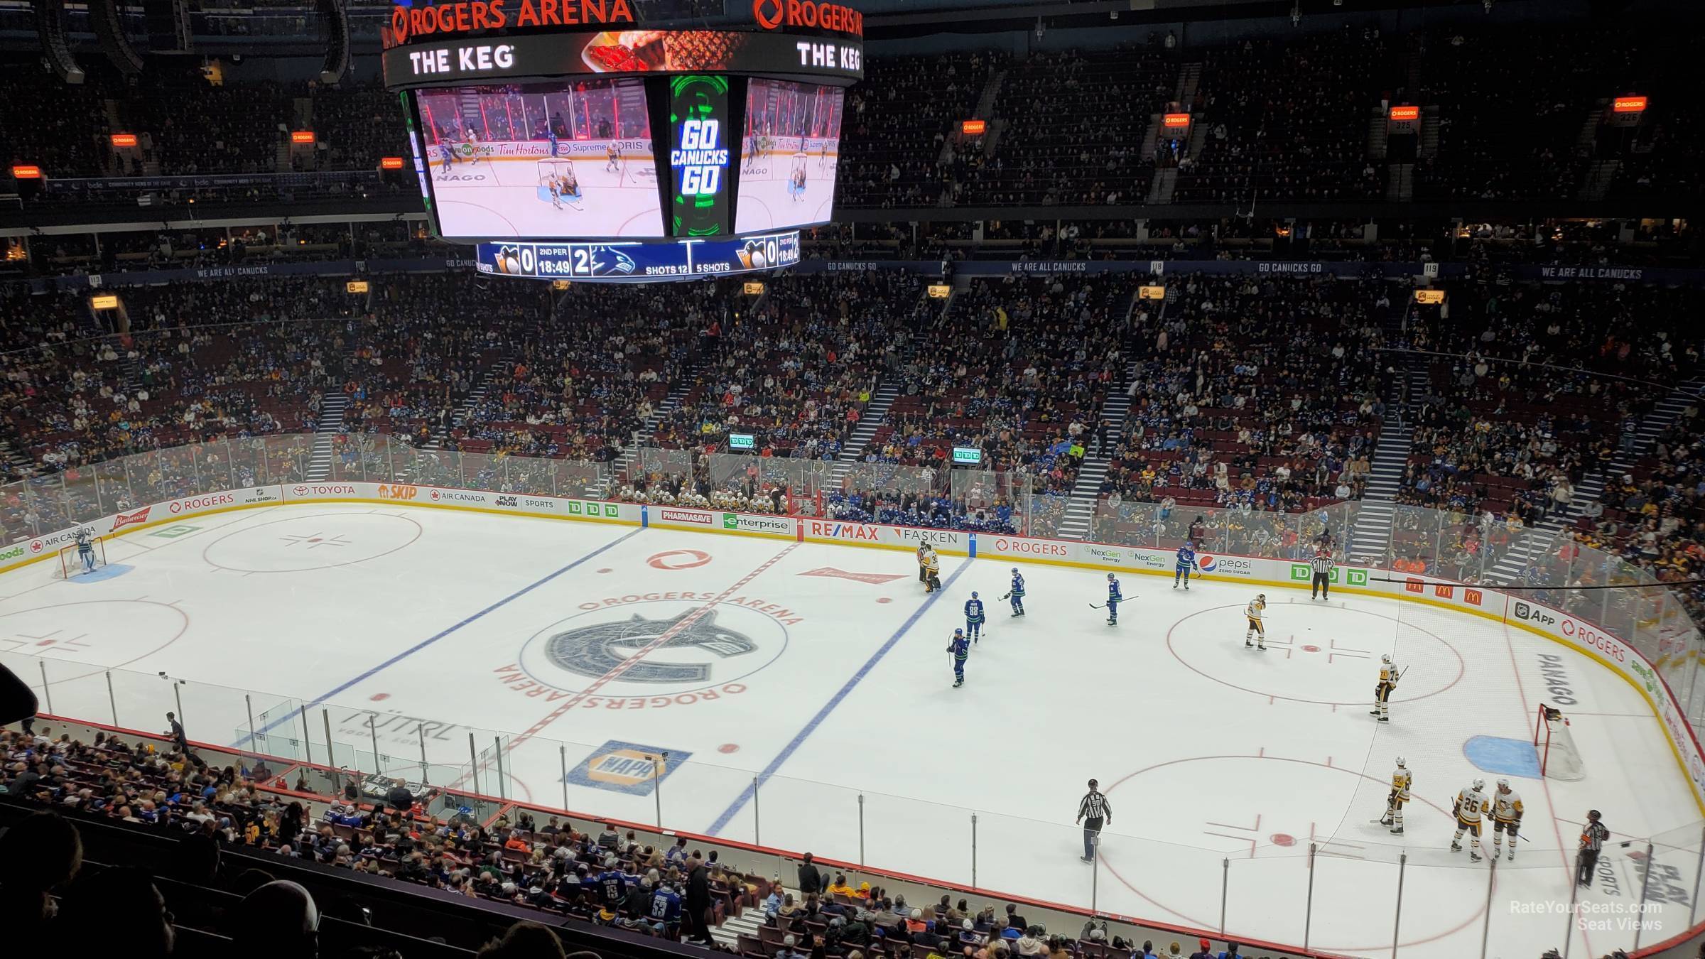
[[[1449, 283], [1449, 317], [1417, 311], [1410, 338], [1444, 353], [1400, 502], [1534, 524], [1606, 468], [1662, 394], [1698, 365], [1691, 288]], [[1691, 355], [1690, 355], [1691, 353]]]

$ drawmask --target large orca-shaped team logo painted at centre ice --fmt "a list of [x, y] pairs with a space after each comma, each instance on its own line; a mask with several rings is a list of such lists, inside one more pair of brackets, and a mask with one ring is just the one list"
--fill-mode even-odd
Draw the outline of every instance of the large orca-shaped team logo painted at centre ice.
[[[544, 643], [544, 655], [552, 665], [580, 676], [600, 677], [627, 660], [629, 655], [675, 630], [696, 611], [673, 619], [646, 619], [634, 614], [629, 619], [598, 623], [556, 633]], [[668, 636], [660, 648], [701, 648], [720, 659], [745, 655], [757, 648], [748, 636], [716, 625], [716, 611], [704, 613], [684, 630]], [[636, 662], [622, 672], [624, 683], [706, 683], [711, 677], [709, 662]]]

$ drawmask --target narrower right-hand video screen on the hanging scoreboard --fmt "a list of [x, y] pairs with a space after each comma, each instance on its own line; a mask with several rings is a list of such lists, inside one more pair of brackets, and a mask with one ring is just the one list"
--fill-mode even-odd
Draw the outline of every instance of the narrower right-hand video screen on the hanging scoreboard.
[[825, 224], [841, 159], [841, 87], [747, 85], [735, 232]]

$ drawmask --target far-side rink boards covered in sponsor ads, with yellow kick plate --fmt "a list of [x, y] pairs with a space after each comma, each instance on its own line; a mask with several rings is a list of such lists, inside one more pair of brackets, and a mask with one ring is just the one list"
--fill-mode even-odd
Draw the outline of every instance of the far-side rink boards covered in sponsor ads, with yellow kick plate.
[[[150, 503], [135, 510], [113, 514], [82, 526], [15, 543], [0, 551], [0, 572], [51, 560], [58, 551], [75, 543], [77, 534], [126, 536], [160, 524], [172, 524], [191, 515], [228, 510], [276, 507], [286, 503], [384, 503], [472, 510], [488, 514], [605, 522], [639, 527], [685, 529], [725, 536], [755, 536], [793, 539], [798, 543], [837, 543], [878, 549], [916, 551], [929, 543], [946, 555], [970, 558], [999, 558], [1025, 563], [1050, 563], [1095, 570], [1129, 572], [1170, 577], [1175, 568], [1173, 551], [1132, 546], [1110, 546], [1067, 539], [1030, 536], [1001, 536], [955, 529], [919, 529], [827, 520], [815, 517], [789, 517], [742, 514], [730, 510], [610, 503], [568, 497], [534, 493], [498, 493], [488, 490], [460, 490], [450, 486], [421, 486], [407, 483], [292, 483], [251, 486], [218, 493], [201, 493], [177, 500]], [[1306, 561], [1265, 560], [1257, 556], [1231, 556], [1197, 553], [1202, 572], [1199, 578], [1245, 582], [1274, 589], [1303, 589], [1311, 570]], [[1342, 592], [1407, 599], [1456, 613], [1517, 626], [1529, 633], [1558, 642], [1599, 662], [1640, 691], [1666, 732], [1676, 763], [1686, 773], [1695, 805], [1705, 814], [1705, 754], [1686, 722], [1681, 705], [1664, 683], [1657, 667], [1632, 643], [1599, 626], [1570, 616], [1560, 609], [1528, 597], [1506, 594], [1485, 585], [1465, 585], [1454, 580], [1388, 570], [1338, 565], [1333, 570], [1335, 587]]]

